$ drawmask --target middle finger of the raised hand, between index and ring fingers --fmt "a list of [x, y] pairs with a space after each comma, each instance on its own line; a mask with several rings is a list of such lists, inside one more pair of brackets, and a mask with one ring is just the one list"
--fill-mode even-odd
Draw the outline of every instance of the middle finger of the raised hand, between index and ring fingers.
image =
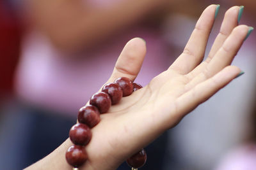
[[237, 20], [240, 10], [243, 10], [243, 6], [233, 6], [232, 8], [226, 11], [225, 17], [221, 24], [220, 32], [212, 45], [209, 56], [207, 57], [205, 62], [202, 62], [193, 71], [191, 71], [191, 73], [188, 74], [189, 80], [193, 79], [196, 75], [200, 74], [202, 70], [205, 69], [205, 66], [207, 66], [207, 64], [211, 61], [212, 57], [216, 54], [216, 52], [221, 48], [224, 41], [231, 34], [234, 27], [237, 26]]

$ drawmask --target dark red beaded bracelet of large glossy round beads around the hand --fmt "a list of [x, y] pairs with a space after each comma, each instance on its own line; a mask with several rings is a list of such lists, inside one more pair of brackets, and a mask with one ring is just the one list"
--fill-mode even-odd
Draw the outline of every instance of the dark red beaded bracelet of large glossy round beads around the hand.
[[[66, 152], [66, 160], [73, 169], [81, 166], [88, 159], [84, 146], [92, 139], [92, 129], [100, 122], [100, 113], [106, 113], [111, 104], [116, 104], [122, 97], [129, 96], [132, 92], [141, 89], [138, 83], [132, 83], [129, 78], [117, 78], [114, 83], [107, 83], [102, 87], [101, 92], [93, 94], [88, 106], [83, 106], [77, 115], [79, 123], [73, 125], [69, 131], [69, 138], [74, 143]], [[136, 170], [142, 167], [147, 160], [144, 149], [132, 155], [126, 160], [127, 164]]]

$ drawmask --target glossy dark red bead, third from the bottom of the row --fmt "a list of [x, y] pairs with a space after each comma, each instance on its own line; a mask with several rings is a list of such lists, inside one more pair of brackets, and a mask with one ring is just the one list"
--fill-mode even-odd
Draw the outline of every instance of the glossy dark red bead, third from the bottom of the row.
[[92, 105], [84, 106], [78, 112], [78, 122], [92, 128], [100, 122], [100, 112]]

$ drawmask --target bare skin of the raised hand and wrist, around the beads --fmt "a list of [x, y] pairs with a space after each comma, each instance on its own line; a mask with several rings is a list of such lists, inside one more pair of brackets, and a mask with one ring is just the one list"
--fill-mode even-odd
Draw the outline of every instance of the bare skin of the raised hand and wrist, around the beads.
[[[79, 169], [116, 169], [133, 153], [147, 146], [164, 131], [177, 125], [196, 106], [225, 87], [241, 72], [230, 66], [248, 32], [237, 26], [239, 6], [230, 8], [223, 19], [220, 34], [211, 52], [202, 62], [207, 39], [214, 24], [216, 5], [208, 6], [198, 22], [184, 52], [163, 73], [131, 96], [102, 114], [92, 129], [92, 141], [86, 146], [88, 160]], [[132, 81], [140, 71], [146, 44], [134, 38], [125, 45], [108, 82], [125, 76]], [[28, 169], [72, 169], [65, 152], [72, 143], [67, 139], [54, 152]]]

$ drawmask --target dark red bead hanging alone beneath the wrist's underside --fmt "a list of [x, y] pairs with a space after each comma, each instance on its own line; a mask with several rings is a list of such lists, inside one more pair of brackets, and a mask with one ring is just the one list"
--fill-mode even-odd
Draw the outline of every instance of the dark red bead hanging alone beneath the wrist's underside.
[[126, 160], [127, 164], [133, 168], [140, 168], [147, 161], [147, 153], [144, 149], [141, 149], [140, 152], [135, 153], [129, 159]]

